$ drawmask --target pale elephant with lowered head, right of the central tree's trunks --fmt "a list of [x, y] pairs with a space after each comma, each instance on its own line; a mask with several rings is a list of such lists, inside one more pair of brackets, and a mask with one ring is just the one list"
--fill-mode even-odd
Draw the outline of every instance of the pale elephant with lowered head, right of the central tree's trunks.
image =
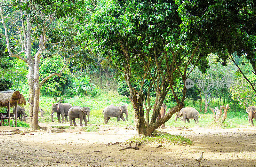
[[177, 118], [180, 118], [183, 116], [183, 121], [186, 123], [186, 120], [189, 122], [189, 119], [194, 119], [195, 123], [199, 123], [198, 121], [198, 112], [196, 108], [193, 107], [185, 107], [182, 108], [180, 111], [176, 113], [175, 122], [177, 121]]

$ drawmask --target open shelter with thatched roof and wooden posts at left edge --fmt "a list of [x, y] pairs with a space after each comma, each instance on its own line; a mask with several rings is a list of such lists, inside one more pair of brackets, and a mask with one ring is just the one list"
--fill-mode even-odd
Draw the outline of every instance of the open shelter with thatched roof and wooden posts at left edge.
[[[17, 127], [17, 106], [26, 105], [26, 100], [20, 91], [0, 91], [0, 107], [8, 108], [8, 123], [10, 126], [10, 107], [15, 107], [15, 127]], [[13, 118], [14, 119], [14, 118]], [[3, 124], [4, 125], [4, 124]]]

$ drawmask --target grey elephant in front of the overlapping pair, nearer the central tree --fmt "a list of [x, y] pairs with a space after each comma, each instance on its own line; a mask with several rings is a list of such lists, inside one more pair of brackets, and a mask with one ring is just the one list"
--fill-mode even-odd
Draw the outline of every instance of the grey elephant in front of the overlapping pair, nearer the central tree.
[[72, 125], [72, 120], [74, 123], [74, 126], [76, 126], [76, 118], [80, 119], [80, 126], [82, 126], [83, 120], [85, 122], [85, 126], [87, 125], [87, 120], [86, 120], [86, 115], [88, 117], [88, 122], [90, 122], [90, 108], [89, 107], [79, 107], [79, 106], [75, 106], [75, 107], [71, 107], [68, 110], [68, 117], [69, 117], [69, 125]]

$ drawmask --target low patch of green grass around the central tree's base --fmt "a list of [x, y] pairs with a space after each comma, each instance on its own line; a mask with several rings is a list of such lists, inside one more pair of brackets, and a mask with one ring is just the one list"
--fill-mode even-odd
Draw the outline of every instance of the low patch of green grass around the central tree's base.
[[191, 141], [190, 139], [184, 136], [172, 135], [172, 134], [159, 134], [153, 137], [149, 137], [149, 136], [133, 137], [127, 141], [141, 141], [141, 140], [146, 140], [146, 142], [149, 144], [153, 144], [155, 142], [159, 144], [164, 144], [164, 143], [188, 144], [188, 145], [193, 144], [193, 141]]

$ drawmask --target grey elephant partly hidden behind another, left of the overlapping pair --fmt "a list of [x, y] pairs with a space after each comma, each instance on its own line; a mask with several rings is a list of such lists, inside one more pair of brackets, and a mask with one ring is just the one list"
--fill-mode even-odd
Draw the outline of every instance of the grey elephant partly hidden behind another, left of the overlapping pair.
[[60, 123], [60, 114], [61, 114], [62, 122], [64, 122], [64, 116], [65, 116], [65, 120], [66, 120], [65, 122], [68, 122], [68, 110], [71, 107], [72, 107], [72, 105], [69, 103], [54, 103], [54, 104], [52, 104], [52, 112], [51, 112], [52, 122], [54, 122], [53, 114], [55, 112], [57, 113], [59, 123]]

